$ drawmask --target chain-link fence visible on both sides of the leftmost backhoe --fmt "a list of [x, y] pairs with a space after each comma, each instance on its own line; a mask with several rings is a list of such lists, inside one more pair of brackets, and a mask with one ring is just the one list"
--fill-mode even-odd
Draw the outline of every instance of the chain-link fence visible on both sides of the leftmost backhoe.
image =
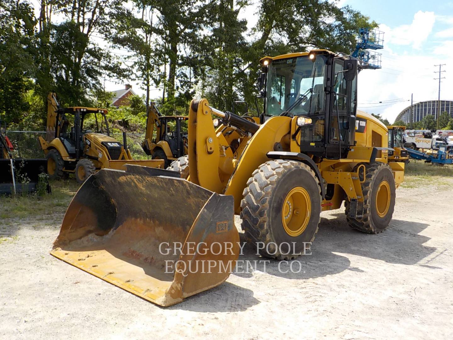
[[[10, 139], [14, 146], [14, 158], [44, 158], [44, 151], [41, 149], [38, 137], [46, 137], [45, 131], [6, 131], [6, 136]], [[117, 141], [123, 143], [123, 134], [112, 133], [111, 136]], [[128, 133], [126, 134], [127, 147], [133, 159], [146, 160], [151, 159], [151, 156], [145, 154], [141, 147], [141, 143], [145, 140], [144, 133]]]

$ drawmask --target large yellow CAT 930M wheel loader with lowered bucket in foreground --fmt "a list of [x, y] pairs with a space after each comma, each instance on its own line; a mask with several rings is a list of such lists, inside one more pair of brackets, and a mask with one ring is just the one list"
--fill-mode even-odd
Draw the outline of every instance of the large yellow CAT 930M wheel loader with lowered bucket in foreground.
[[357, 59], [313, 50], [261, 66], [258, 121], [193, 100], [187, 180], [138, 166], [99, 171], [69, 205], [51, 253], [169, 306], [234, 270], [234, 214], [257, 251], [278, 260], [304, 253], [321, 211], [343, 202], [352, 228], [386, 229], [404, 163], [388, 162], [386, 126], [357, 112]]

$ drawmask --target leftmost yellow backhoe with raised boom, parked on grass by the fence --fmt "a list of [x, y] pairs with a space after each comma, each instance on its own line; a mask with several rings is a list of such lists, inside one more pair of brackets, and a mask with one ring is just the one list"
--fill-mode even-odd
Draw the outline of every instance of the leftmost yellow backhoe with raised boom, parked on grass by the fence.
[[[46, 139], [39, 137], [39, 143], [46, 154], [50, 179], [74, 174], [77, 182], [83, 183], [103, 168], [125, 169], [126, 164], [164, 167], [162, 160], [133, 160], [125, 134], [123, 144], [110, 136], [106, 114], [106, 109], [94, 107], [59, 108], [55, 93], [49, 94]], [[87, 126], [90, 116], [95, 118], [96, 132]]]

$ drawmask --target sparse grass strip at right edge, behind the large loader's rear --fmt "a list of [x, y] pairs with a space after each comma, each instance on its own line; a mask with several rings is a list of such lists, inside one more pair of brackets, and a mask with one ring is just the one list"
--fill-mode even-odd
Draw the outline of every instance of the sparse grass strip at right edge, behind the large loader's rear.
[[404, 182], [401, 187], [412, 189], [419, 187], [435, 187], [451, 189], [453, 185], [453, 165], [433, 165], [423, 160], [410, 160], [405, 166]]

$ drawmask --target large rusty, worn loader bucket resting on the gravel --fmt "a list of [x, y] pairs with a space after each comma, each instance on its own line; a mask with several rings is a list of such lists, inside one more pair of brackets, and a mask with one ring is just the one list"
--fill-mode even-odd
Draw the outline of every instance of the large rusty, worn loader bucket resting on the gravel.
[[160, 306], [225, 281], [239, 254], [233, 197], [138, 168], [90, 176], [51, 254]]

